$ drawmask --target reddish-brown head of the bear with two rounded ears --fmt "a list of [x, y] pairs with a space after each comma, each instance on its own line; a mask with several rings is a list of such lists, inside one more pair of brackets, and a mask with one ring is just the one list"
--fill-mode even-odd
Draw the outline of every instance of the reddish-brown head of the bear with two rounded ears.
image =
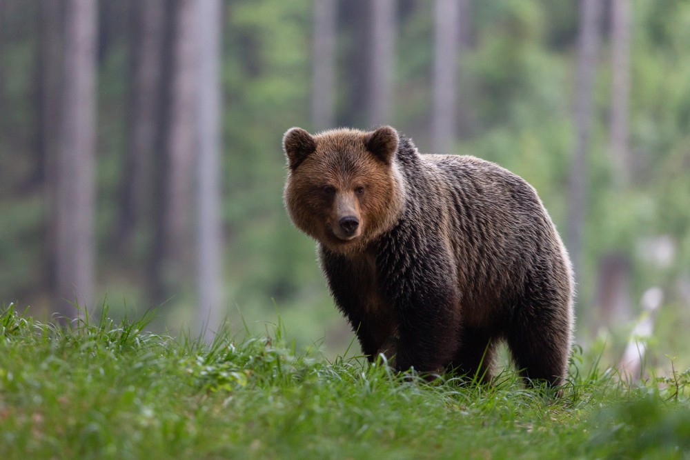
[[288, 130], [284, 199], [295, 226], [340, 253], [363, 250], [390, 230], [404, 203], [395, 163], [398, 142], [390, 126], [315, 136], [302, 128]]

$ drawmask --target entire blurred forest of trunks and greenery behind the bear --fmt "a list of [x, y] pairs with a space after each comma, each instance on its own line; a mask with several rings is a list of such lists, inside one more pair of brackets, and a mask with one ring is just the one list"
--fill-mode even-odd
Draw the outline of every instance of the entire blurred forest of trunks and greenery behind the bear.
[[1, 0], [0, 302], [172, 331], [279, 316], [343, 352], [281, 137], [390, 124], [538, 190], [578, 343], [615, 363], [651, 314], [648, 366], [687, 368], [689, 50], [686, 0]]

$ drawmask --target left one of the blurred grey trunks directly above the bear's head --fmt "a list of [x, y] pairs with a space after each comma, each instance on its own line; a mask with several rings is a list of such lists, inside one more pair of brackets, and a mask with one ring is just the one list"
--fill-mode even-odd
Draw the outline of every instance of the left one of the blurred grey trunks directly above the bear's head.
[[335, 1], [314, 2], [312, 123], [317, 131], [335, 123]]

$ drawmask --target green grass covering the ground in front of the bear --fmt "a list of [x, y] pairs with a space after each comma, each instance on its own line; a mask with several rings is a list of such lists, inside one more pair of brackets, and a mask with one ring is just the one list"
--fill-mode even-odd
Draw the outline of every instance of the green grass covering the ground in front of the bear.
[[280, 327], [207, 346], [147, 321], [0, 312], [0, 459], [690, 458], [687, 374], [631, 387], [575, 360], [554, 399], [507, 371], [482, 386], [328, 362]]

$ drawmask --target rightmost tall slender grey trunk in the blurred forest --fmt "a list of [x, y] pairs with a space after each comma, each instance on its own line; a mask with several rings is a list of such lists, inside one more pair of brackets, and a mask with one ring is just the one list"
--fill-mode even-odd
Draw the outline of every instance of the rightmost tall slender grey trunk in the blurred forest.
[[611, 0], [611, 163], [617, 186], [631, 179], [628, 154], [630, 94], [630, 2]]

